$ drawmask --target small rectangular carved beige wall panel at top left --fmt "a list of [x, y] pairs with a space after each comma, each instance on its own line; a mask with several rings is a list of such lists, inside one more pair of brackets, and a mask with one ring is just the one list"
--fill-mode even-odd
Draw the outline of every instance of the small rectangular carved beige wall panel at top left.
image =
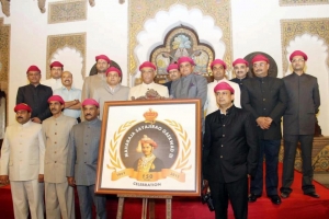
[[84, 0], [49, 3], [48, 24], [83, 20], [87, 20], [87, 4]]

